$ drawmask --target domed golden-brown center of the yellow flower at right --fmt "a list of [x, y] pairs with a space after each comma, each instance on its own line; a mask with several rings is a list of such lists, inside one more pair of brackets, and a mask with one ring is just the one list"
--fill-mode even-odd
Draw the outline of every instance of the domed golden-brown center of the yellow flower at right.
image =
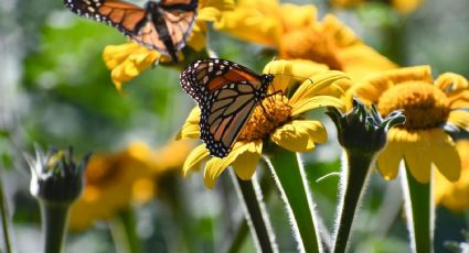
[[386, 90], [377, 102], [383, 116], [404, 109], [407, 130], [430, 129], [445, 122], [449, 114], [449, 100], [435, 86], [425, 81], [406, 81]]

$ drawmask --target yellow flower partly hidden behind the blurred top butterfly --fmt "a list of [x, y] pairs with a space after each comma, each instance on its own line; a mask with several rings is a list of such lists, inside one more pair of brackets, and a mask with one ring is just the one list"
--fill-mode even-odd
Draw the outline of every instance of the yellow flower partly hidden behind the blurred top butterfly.
[[[195, 24], [188, 40], [188, 45], [195, 52], [205, 47], [206, 23], [213, 22], [222, 15], [223, 11], [233, 9], [233, 0], [204, 0], [199, 1], [199, 10]], [[120, 45], [108, 45], [103, 52], [104, 62], [111, 70], [110, 77], [118, 90], [122, 89], [122, 82], [129, 81], [141, 72], [159, 63], [171, 63], [171, 58], [161, 55], [157, 51], [149, 50], [134, 42]]]

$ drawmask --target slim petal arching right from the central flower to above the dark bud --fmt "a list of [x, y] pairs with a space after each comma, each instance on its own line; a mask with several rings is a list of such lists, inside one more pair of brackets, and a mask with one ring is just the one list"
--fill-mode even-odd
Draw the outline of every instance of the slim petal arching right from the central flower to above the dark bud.
[[345, 106], [342, 100], [331, 96], [316, 96], [297, 101], [296, 103], [290, 102], [291, 116], [298, 116], [306, 111], [320, 108], [320, 107], [335, 107], [339, 110], [344, 110]]

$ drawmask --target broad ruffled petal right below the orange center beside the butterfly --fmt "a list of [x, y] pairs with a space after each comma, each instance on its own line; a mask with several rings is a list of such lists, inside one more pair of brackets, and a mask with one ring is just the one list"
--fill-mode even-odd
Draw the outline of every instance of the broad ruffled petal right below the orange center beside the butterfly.
[[308, 152], [315, 142], [326, 142], [328, 135], [324, 127], [318, 121], [294, 120], [275, 130], [270, 140], [291, 152]]

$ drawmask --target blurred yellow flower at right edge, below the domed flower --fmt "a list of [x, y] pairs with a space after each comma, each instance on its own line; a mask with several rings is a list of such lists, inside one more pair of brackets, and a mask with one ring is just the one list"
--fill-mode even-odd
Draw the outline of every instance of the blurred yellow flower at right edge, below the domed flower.
[[469, 141], [457, 142], [456, 150], [461, 157], [461, 177], [451, 183], [437, 173], [435, 199], [448, 209], [462, 211], [469, 207]]

